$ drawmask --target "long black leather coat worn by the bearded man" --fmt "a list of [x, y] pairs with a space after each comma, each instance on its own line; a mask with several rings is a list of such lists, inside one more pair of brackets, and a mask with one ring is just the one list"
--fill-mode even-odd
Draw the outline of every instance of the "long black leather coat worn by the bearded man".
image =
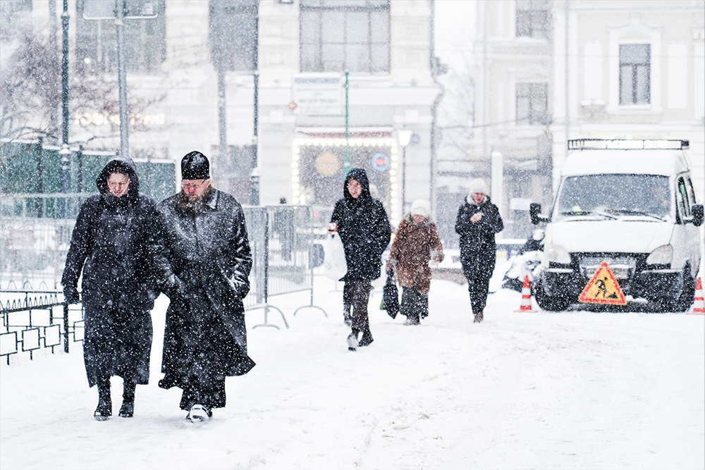
[[[247, 356], [243, 307], [252, 268], [243, 208], [219, 190], [207, 194], [202, 211], [195, 214], [180, 209], [178, 198], [175, 194], [158, 206], [168, 261], [164, 271], [172, 284], [167, 289], [171, 304], [161, 363], [165, 376], [159, 382], [163, 388], [183, 388], [193, 373], [195, 350], [213, 352], [219, 364], [211, 364], [206, 373], [215, 376], [239, 376], [255, 366]], [[225, 341], [202, 334], [220, 325], [226, 330]], [[212, 344], [204, 344], [209, 340]]]

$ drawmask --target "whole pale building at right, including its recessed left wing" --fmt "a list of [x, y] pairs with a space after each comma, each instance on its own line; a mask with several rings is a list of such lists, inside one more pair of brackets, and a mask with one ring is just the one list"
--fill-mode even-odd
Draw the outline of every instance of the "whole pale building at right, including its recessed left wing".
[[491, 180], [503, 236], [527, 237], [529, 202], [551, 203], [567, 140], [633, 138], [689, 140], [705, 199], [705, 2], [477, 0], [475, 11], [467, 171], [439, 175], [439, 195]]

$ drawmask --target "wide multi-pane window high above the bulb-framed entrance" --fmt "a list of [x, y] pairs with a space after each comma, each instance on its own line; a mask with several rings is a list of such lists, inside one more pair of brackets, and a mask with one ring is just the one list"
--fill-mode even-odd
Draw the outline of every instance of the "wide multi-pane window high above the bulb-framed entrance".
[[301, 0], [301, 71], [389, 73], [389, 3]]

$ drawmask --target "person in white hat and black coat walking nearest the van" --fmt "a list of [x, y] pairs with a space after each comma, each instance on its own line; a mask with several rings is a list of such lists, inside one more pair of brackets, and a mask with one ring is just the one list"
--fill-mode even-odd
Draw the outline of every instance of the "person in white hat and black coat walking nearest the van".
[[474, 323], [484, 318], [489, 280], [496, 263], [494, 235], [504, 229], [497, 206], [490, 202], [483, 180], [470, 182], [470, 194], [458, 210], [455, 232], [460, 235], [460, 263], [467, 278]]

